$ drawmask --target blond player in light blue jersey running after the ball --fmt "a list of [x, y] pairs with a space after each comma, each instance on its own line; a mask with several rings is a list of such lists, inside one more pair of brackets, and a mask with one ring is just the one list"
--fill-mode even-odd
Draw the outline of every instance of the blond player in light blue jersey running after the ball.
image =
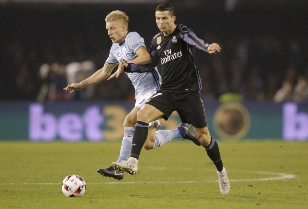
[[[131, 65], [145, 65], [152, 62], [152, 57], [148, 53], [144, 39], [137, 32], [128, 31], [128, 16], [119, 10], [112, 11], [106, 16], [106, 29], [112, 41], [109, 57], [102, 69], [96, 71], [91, 77], [79, 83], [67, 85], [64, 90], [75, 92], [82, 90], [86, 86], [99, 83], [110, 76], [112, 70], [120, 61], [126, 61]], [[155, 94], [160, 87], [161, 77], [157, 68], [146, 73], [126, 73], [135, 87], [135, 108], [126, 116], [124, 120], [124, 137], [120, 150], [120, 156], [117, 162], [127, 160], [131, 153], [132, 137], [135, 131], [137, 112], [144, 106], [145, 102]], [[195, 144], [200, 145], [197, 136], [188, 128], [186, 123], [181, 123], [174, 130], [159, 130], [159, 120], [155, 120], [149, 124], [148, 139], [144, 144], [145, 149], [153, 149], [159, 147], [172, 139], [184, 138], [192, 140]], [[198, 144], [199, 143], [199, 144]], [[107, 169], [98, 169], [97, 172], [106, 177], [123, 179], [123, 171], [118, 171], [109, 167]]]

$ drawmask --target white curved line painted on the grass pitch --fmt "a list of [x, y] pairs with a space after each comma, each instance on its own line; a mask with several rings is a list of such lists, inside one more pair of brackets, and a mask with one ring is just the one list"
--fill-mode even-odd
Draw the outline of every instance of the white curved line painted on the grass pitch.
[[[168, 168], [165, 167], [148, 167], [150, 169], [156, 170], [166, 170]], [[172, 168], [169, 168], [172, 169]], [[192, 170], [190, 168], [180, 168], [181, 170]], [[206, 169], [209, 170], [209, 169]], [[213, 170], [213, 169], [211, 169]], [[253, 178], [253, 179], [230, 179], [230, 182], [255, 182], [255, 181], [277, 181], [283, 179], [291, 179], [294, 178], [294, 174], [286, 174], [286, 173], [273, 173], [266, 171], [244, 171], [244, 170], [233, 170], [232, 172], [246, 172], [246, 173], [259, 173], [265, 175], [276, 175], [277, 177], [269, 177], [269, 178]], [[217, 180], [209, 180], [209, 181], [158, 181], [158, 182], [91, 182], [87, 184], [170, 184], [170, 183], [213, 183], [217, 182]], [[0, 183], [0, 185], [60, 185], [61, 183]]]

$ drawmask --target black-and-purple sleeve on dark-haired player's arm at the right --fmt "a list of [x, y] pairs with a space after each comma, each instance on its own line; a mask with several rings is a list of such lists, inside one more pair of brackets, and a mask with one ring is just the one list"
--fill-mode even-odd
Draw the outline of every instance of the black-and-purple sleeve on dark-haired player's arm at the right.
[[204, 40], [197, 37], [197, 35], [190, 30], [188, 27], [181, 25], [180, 27], [180, 38], [187, 44], [192, 45], [198, 49], [208, 52], [209, 44]]

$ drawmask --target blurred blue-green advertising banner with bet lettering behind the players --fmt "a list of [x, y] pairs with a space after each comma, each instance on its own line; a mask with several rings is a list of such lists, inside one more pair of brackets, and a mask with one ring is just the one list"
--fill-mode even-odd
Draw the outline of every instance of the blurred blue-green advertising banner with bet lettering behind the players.
[[[204, 102], [213, 137], [240, 139], [308, 139], [308, 105], [296, 103]], [[121, 140], [123, 121], [133, 102], [2, 102], [0, 140]], [[174, 112], [161, 129], [174, 129]]]

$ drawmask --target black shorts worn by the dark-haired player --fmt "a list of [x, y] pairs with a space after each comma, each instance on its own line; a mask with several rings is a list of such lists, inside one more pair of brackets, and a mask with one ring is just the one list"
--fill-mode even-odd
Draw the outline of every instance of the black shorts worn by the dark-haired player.
[[176, 111], [183, 123], [190, 123], [196, 128], [208, 126], [199, 91], [173, 93], [159, 90], [148, 99], [146, 104], [164, 113], [165, 120], [168, 120], [172, 112]]

